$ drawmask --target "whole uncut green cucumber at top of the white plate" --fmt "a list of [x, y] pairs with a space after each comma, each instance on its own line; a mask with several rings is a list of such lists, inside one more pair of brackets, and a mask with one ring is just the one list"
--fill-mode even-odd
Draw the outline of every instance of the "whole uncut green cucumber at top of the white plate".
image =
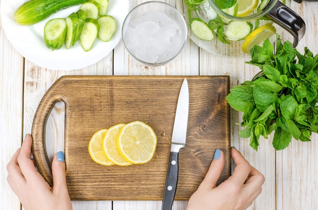
[[16, 10], [14, 20], [20, 25], [32, 25], [61, 9], [85, 2], [87, 0], [30, 0]]

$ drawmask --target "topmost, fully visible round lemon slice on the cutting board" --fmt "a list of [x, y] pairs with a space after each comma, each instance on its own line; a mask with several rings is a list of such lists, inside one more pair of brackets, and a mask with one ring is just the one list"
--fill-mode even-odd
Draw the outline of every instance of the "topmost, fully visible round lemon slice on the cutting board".
[[157, 145], [157, 137], [152, 128], [135, 121], [122, 127], [117, 136], [117, 148], [126, 161], [143, 164], [151, 160]]

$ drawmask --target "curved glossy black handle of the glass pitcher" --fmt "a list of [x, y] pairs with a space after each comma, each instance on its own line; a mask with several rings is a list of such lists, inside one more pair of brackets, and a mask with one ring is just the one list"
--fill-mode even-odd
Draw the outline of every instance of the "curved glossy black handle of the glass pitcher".
[[275, 6], [265, 15], [265, 17], [290, 32], [294, 37], [293, 47], [297, 47], [299, 40], [303, 38], [306, 31], [305, 22], [299, 15], [277, 1]]

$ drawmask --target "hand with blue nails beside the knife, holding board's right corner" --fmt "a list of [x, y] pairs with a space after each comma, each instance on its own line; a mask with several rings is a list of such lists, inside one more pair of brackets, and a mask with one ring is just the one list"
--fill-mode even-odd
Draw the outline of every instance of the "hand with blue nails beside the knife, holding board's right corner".
[[216, 187], [224, 168], [224, 153], [216, 150], [214, 160], [200, 184], [198, 190], [190, 197], [187, 210], [243, 210], [261, 194], [265, 178], [252, 167], [235, 148], [231, 156], [236, 167], [231, 177]]

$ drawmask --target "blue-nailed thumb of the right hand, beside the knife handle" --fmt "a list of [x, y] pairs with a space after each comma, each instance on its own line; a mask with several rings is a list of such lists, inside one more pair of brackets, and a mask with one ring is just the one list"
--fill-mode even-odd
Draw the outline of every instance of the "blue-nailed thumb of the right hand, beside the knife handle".
[[[216, 187], [216, 183], [221, 176], [222, 170], [225, 164], [224, 153], [219, 149], [215, 150], [214, 159], [210, 165], [210, 168], [202, 181], [200, 187], [213, 189]], [[199, 188], [200, 188], [199, 187]]]

